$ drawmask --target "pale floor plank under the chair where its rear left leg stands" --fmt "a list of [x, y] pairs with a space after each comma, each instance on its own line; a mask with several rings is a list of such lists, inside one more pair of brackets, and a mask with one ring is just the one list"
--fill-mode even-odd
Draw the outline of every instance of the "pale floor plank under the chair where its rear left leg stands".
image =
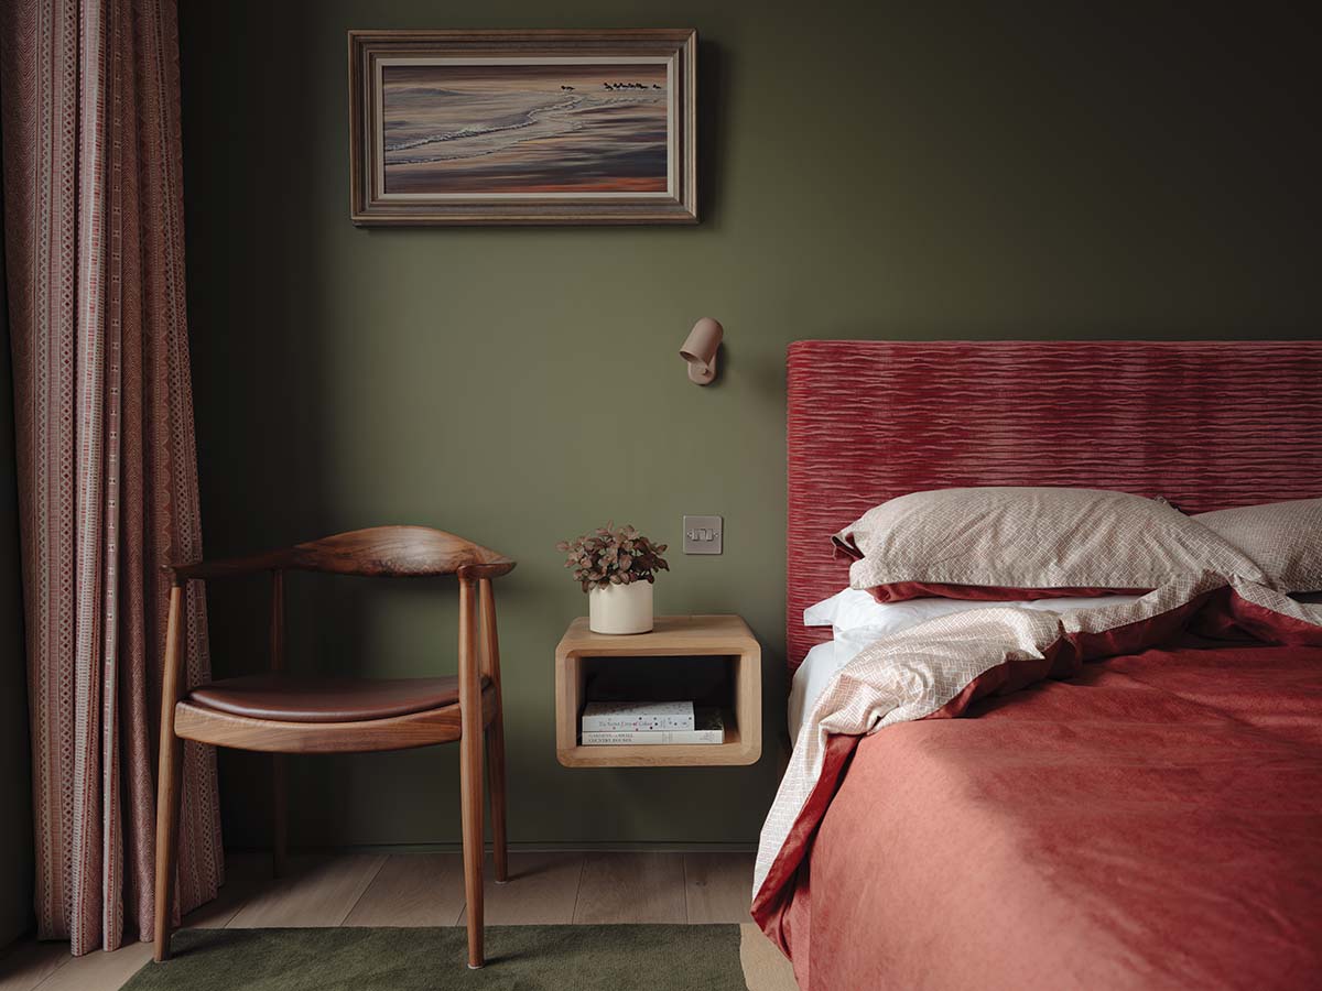
[[341, 925], [385, 863], [379, 854], [290, 858], [290, 876], [249, 899], [226, 925]]

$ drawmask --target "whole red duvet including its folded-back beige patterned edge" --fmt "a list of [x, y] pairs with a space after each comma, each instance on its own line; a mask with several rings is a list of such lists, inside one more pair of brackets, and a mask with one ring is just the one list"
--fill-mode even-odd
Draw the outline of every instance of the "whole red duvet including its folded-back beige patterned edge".
[[1216, 573], [886, 637], [809, 716], [754, 917], [805, 988], [1300, 986], [1319, 679], [1322, 606]]

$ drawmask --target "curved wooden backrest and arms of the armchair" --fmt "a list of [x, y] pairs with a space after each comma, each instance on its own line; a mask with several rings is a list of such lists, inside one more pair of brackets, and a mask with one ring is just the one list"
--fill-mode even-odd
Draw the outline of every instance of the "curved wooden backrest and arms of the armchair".
[[428, 526], [374, 526], [247, 558], [173, 564], [180, 580], [222, 577], [254, 571], [321, 571], [366, 577], [459, 575], [492, 579], [514, 562], [463, 536]]

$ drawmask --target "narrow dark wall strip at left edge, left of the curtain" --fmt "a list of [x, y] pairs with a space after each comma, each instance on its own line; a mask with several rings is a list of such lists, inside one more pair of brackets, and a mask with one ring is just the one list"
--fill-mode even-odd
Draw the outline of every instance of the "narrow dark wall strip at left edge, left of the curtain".
[[[0, 222], [0, 230], [4, 225]], [[0, 949], [32, 922], [32, 772], [22, 643], [9, 304], [0, 235]]]

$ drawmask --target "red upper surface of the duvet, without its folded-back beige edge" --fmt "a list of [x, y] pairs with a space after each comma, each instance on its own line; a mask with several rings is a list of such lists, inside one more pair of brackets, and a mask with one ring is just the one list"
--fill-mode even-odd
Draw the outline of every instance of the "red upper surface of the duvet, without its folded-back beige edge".
[[965, 715], [829, 739], [763, 920], [804, 988], [1322, 987], [1322, 647], [1181, 634]]

